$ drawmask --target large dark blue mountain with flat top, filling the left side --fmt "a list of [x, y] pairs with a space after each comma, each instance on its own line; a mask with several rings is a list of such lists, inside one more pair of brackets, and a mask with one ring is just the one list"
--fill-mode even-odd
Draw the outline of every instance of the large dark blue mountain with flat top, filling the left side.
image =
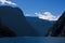
[[28, 24], [20, 8], [0, 6], [0, 25], [9, 27], [16, 35], [39, 37], [38, 31]]

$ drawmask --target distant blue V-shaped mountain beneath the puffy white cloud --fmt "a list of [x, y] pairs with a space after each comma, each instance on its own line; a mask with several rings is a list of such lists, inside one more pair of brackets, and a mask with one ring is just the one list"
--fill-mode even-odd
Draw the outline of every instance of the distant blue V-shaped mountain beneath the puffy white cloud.
[[29, 17], [26, 16], [28, 23], [37, 30], [39, 31], [40, 35], [44, 37], [44, 34], [48, 32], [49, 28], [53, 26], [55, 23], [54, 20], [46, 20], [40, 19], [38, 17]]

